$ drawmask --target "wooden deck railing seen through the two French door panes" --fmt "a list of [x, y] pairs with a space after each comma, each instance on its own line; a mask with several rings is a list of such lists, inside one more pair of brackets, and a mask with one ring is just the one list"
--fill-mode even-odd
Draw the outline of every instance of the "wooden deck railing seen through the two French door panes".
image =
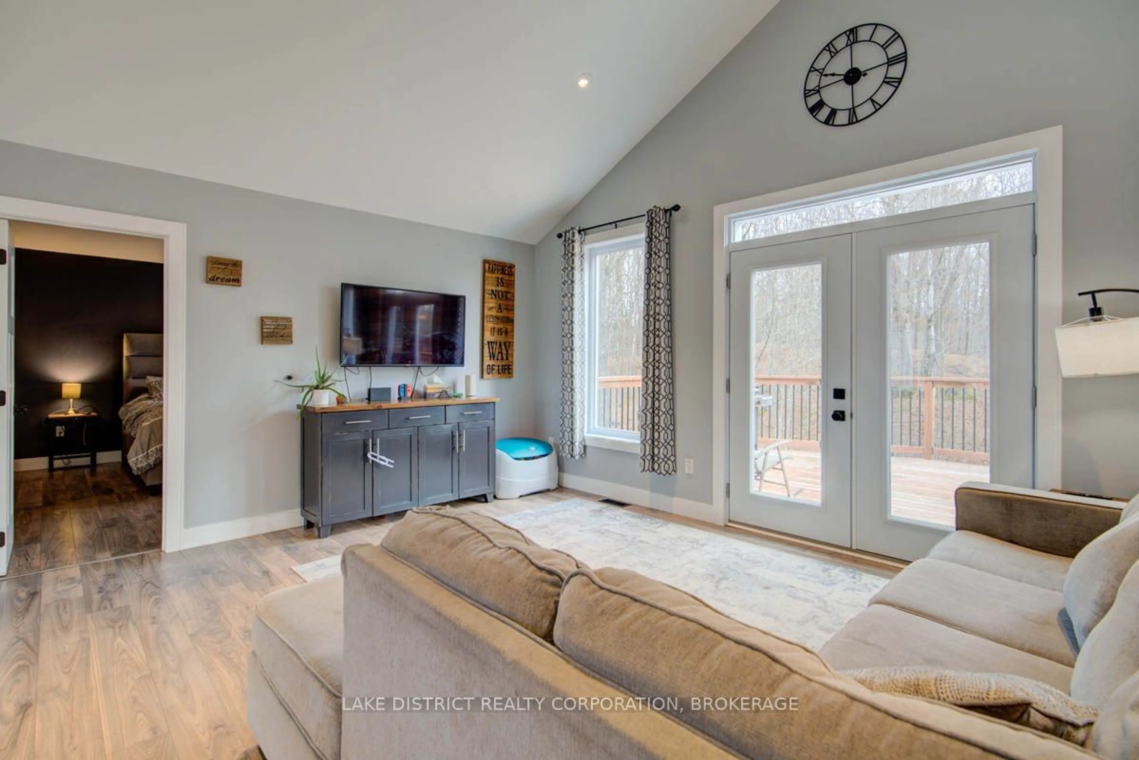
[[[755, 377], [756, 442], [816, 448], [825, 399], [818, 376]], [[989, 381], [892, 377], [891, 450], [901, 456], [989, 461]], [[812, 446], [813, 443], [813, 446]]]

